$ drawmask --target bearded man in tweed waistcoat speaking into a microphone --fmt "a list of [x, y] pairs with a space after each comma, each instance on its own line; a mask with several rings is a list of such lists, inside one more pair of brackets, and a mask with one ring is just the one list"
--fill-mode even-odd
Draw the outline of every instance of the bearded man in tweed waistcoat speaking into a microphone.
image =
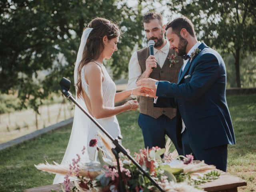
[[[177, 56], [175, 64], [170, 62], [170, 56], [175, 52], [169, 48], [169, 42], [164, 38], [165, 25], [162, 15], [158, 12], [148, 12], [143, 17], [143, 26], [147, 39], [155, 42], [154, 56], [150, 55], [148, 47], [134, 52], [129, 62], [128, 88], [135, 88], [137, 80], [148, 77], [177, 82], [183, 60]], [[167, 135], [178, 153], [182, 154], [176, 142], [176, 109], [154, 108], [153, 99], [144, 96], [140, 96], [139, 107], [138, 124], [142, 129], [145, 148], [164, 148]]]

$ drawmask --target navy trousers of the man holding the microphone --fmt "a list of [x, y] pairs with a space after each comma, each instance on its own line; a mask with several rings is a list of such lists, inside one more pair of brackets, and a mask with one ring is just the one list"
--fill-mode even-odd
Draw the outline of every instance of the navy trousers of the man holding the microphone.
[[153, 146], [165, 148], [165, 135], [167, 135], [172, 140], [178, 154], [183, 154], [176, 140], [176, 118], [170, 119], [162, 115], [155, 119], [140, 113], [138, 125], [142, 129], [145, 148], [152, 148]]

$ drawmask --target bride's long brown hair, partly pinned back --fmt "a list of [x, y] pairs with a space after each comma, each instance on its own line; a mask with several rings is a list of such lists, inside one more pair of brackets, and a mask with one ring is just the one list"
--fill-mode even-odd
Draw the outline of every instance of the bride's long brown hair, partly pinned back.
[[116, 24], [105, 18], [95, 18], [89, 24], [88, 28], [93, 28], [90, 32], [86, 45], [84, 47], [82, 60], [78, 66], [77, 96], [82, 97], [81, 70], [84, 65], [92, 60], [96, 60], [104, 49], [103, 37], [107, 36], [108, 40], [120, 35], [120, 30]]

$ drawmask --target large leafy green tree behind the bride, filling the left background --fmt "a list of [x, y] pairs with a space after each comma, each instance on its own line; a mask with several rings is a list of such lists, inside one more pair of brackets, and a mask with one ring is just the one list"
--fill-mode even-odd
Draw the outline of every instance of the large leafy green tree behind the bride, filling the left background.
[[[18, 90], [22, 105], [37, 110], [43, 98], [58, 92], [62, 76], [73, 80], [84, 24], [96, 16], [122, 29], [119, 51], [109, 64], [114, 78], [126, 74], [132, 50], [142, 42], [140, 14], [140, 6], [118, 0], [0, 1], [0, 92]], [[42, 71], [45, 78], [38, 76]]]

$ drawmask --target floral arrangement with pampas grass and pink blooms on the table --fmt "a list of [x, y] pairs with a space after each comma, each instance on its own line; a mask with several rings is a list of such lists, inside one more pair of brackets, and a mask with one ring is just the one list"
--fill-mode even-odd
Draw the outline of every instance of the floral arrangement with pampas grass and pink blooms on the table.
[[[108, 138], [98, 133], [104, 144], [98, 146], [98, 140], [90, 141], [90, 147], [96, 147], [95, 160], [82, 164], [80, 155], [72, 160], [69, 166], [57, 164], [35, 165], [39, 170], [50, 173], [64, 174], [64, 192], [118, 192], [119, 175], [117, 162], [112, 154], [112, 143]], [[217, 179], [220, 173], [215, 166], [194, 162], [192, 155], [178, 156], [177, 152], [169, 151], [171, 142], [166, 142], [166, 148], [153, 147], [141, 149], [135, 153], [135, 160], [166, 192], [198, 192], [198, 185]], [[82, 150], [82, 154], [86, 148]], [[177, 160], [182, 158], [183, 160]], [[150, 180], [123, 154], [120, 154], [120, 170], [127, 192], [158, 192]], [[73, 181], [70, 181], [73, 178]]]

